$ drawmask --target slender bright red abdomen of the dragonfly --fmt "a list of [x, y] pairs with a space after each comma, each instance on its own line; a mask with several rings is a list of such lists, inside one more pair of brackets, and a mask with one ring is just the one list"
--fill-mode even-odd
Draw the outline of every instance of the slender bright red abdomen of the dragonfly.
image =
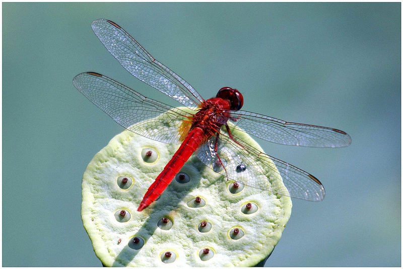
[[185, 140], [175, 152], [172, 159], [165, 165], [164, 170], [157, 176], [155, 182], [148, 188], [137, 211], [142, 211], [154, 202], [158, 196], [168, 187], [174, 176], [180, 171], [183, 164], [193, 152], [203, 143], [205, 132], [199, 127], [190, 130]]

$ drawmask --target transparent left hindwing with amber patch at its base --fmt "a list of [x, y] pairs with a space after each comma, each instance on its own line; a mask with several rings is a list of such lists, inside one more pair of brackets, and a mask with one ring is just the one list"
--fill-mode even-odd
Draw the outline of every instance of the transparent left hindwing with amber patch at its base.
[[[164, 142], [179, 144], [178, 127], [192, 114], [146, 98], [119, 82], [95, 72], [78, 74], [74, 86], [94, 105], [129, 131]], [[162, 113], [165, 113], [161, 115]], [[141, 127], [133, 125], [144, 121]], [[153, 128], [150, 128], [153, 127]]]

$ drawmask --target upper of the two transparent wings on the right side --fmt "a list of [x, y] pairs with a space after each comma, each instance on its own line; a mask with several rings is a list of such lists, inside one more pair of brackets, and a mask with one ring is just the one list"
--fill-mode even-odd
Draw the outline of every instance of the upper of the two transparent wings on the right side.
[[234, 124], [240, 131], [266, 141], [305, 147], [347, 147], [351, 137], [338, 129], [286, 122], [248, 111], [232, 111]]

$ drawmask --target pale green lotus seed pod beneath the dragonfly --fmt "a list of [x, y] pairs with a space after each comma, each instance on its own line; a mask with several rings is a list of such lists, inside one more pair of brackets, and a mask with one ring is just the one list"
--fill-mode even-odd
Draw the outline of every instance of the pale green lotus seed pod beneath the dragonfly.
[[[166, 118], [161, 115], [137, 127], [156, 133], [164, 129], [156, 122], [172, 124]], [[166, 130], [159, 133], [175, 135]], [[246, 133], [233, 134], [262, 151]], [[245, 176], [262, 178], [267, 171], [248, 166], [237, 173], [238, 188], [233, 188], [224, 171], [214, 171], [219, 166], [209, 168], [193, 154], [158, 201], [137, 211], [178, 147], [125, 130], [94, 156], [83, 176], [81, 216], [95, 254], [105, 266], [263, 265], [280, 240], [292, 207], [289, 197], [247, 185]], [[222, 161], [229, 169], [231, 159], [223, 156]], [[271, 186], [285, 188], [282, 178], [273, 174]], [[166, 225], [169, 229], [161, 228]]]

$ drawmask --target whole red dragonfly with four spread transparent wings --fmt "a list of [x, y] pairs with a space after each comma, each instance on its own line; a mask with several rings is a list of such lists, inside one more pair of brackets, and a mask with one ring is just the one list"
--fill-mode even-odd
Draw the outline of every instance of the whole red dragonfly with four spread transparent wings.
[[[331, 148], [350, 145], [351, 137], [347, 133], [240, 110], [243, 97], [237, 89], [230, 87], [221, 88], [215, 98], [205, 100], [116, 23], [96, 20], [91, 26], [107, 50], [128, 72], [188, 108], [174, 108], [146, 98], [95, 72], [81, 73], [73, 79], [73, 84], [85, 97], [127, 130], [157, 141], [181, 144], [148, 189], [138, 211], [159, 197], [193, 153], [215, 171], [217, 165], [222, 167], [219, 172], [229, 181], [236, 182], [241, 178], [244, 185], [260, 190], [308, 201], [323, 200], [325, 191], [315, 176], [261, 152], [232, 135], [231, 130], [237, 129], [284, 145]], [[162, 113], [166, 113], [165, 116], [162, 117]], [[160, 117], [156, 119], [157, 116]], [[142, 121], [155, 129], [133, 128]], [[259, 173], [251, 172], [256, 169], [260, 170]], [[262, 184], [261, 178], [256, 178], [256, 174], [264, 176], [267, 171], [280, 173], [287, 190], [273, 191], [268, 187], [270, 184]], [[265, 181], [268, 181], [267, 177]]]

